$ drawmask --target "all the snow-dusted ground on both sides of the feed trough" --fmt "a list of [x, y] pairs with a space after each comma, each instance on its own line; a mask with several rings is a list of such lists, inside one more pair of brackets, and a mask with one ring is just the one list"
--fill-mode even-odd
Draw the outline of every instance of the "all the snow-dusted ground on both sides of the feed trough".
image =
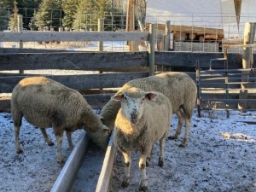
[[[157, 166], [158, 144], [154, 146], [151, 164], [147, 168], [148, 192], [256, 191], [256, 125], [241, 121], [256, 122], [256, 112], [232, 112], [230, 119], [226, 119], [224, 112], [211, 113], [211, 118], [198, 118], [195, 112], [189, 145], [178, 148], [183, 133], [177, 141], [167, 140], [165, 165], [162, 168]], [[176, 125], [177, 117], [174, 115], [170, 135], [174, 133]], [[24, 153], [16, 154], [10, 113], [0, 113], [0, 129], [0, 191], [49, 191], [62, 168], [56, 163], [56, 145], [47, 146], [41, 132], [23, 120], [20, 142]], [[56, 143], [52, 129], [47, 131]], [[74, 143], [79, 134], [80, 131], [73, 133]], [[67, 160], [70, 151], [66, 137], [62, 152]], [[138, 155], [133, 154], [131, 184], [127, 189], [122, 189], [124, 163], [123, 157], [117, 153], [112, 192], [138, 190], [140, 172], [137, 158]]]

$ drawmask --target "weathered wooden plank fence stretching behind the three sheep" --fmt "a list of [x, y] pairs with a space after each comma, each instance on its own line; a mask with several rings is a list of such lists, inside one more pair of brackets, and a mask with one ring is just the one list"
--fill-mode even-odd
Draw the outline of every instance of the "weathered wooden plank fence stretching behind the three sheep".
[[[154, 25], [149, 32], [0, 32], [0, 42], [20, 44], [41, 41], [148, 42], [148, 50], [141, 52], [0, 49], [0, 110], [9, 111], [9, 94], [15, 84], [26, 77], [44, 75], [54, 79], [79, 90], [92, 108], [102, 108], [110, 96], [131, 79], [148, 77], [166, 69], [184, 71], [196, 79], [195, 61], [200, 61], [201, 68], [205, 69], [212, 58], [224, 56], [223, 53], [155, 51], [155, 36]], [[241, 54], [229, 53], [227, 58], [230, 69], [241, 68]], [[223, 66], [222, 61], [214, 65], [216, 68]]]

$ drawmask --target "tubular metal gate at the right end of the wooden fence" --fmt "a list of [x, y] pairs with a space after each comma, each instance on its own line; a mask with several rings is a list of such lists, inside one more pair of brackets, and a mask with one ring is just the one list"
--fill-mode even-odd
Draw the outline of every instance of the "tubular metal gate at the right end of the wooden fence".
[[[219, 58], [219, 60], [221, 59]], [[212, 69], [210, 65], [207, 70], [201, 70], [200, 63], [197, 62], [196, 83], [199, 117], [202, 116], [202, 110], [225, 110], [227, 118], [230, 118], [230, 110], [239, 109], [240, 106], [246, 110], [255, 110], [255, 105], [252, 105], [256, 103], [255, 68], [229, 69], [226, 60], [224, 61], [223, 69]], [[246, 87], [241, 88], [241, 84]]]

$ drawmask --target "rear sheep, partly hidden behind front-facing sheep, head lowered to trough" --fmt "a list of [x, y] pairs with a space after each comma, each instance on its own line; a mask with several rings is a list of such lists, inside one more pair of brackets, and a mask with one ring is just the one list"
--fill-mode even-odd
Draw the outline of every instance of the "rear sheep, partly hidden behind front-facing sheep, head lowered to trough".
[[[177, 139], [180, 135], [183, 119], [185, 119], [185, 134], [179, 147], [185, 147], [189, 141], [191, 117], [195, 108], [196, 85], [193, 79], [186, 73], [170, 72], [160, 73], [143, 79], [133, 79], [124, 84], [118, 93], [131, 87], [137, 87], [145, 91], [158, 91], [166, 95], [172, 103], [172, 113], [177, 114], [177, 130], [170, 139]], [[100, 114], [102, 123], [113, 129], [114, 119], [120, 108], [120, 103], [110, 100]]]

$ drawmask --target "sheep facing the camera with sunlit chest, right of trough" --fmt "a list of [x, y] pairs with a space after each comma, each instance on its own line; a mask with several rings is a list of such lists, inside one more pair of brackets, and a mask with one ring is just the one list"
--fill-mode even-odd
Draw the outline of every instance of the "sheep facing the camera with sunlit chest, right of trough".
[[146, 166], [157, 141], [160, 141], [158, 165], [164, 165], [164, 147], [172, 121], [172, 104], [159, 92], [145, 92], [134, 87], [118, 92], [112, 99], [121, 103], [114, 122], [113, 143], [125, 159], [122, 186], [130, 184], [131, 153], [138, 151], [142, 178], [139, 189], [147, 190]]

